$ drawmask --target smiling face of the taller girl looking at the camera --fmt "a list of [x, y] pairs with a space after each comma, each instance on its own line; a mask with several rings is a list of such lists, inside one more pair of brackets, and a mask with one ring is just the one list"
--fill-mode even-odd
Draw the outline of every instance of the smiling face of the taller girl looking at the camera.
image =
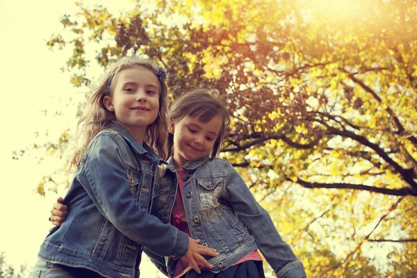
[[132, 67], [119, 72], [115, 91], [104, 97], [104, 105], [136, 137], [158, 117], [159, 90], [158, 77], [151, 70]]

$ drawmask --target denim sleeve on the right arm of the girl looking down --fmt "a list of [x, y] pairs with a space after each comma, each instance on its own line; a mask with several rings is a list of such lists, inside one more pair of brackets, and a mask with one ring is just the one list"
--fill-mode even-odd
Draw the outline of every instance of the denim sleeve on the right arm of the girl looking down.
[[304, 266], [291, 247], [282, 240], [265, 209], [256, 202], [245, 181], [234, 167], [227, 163], [225, 199], [250, 234], [279, 278], [305, 277]]

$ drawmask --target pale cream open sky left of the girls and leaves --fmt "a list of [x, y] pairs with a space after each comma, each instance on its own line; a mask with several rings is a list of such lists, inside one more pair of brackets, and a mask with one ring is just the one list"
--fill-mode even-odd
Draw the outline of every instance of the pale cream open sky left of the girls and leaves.
[[[49, 51], [46, 46], [53, 33], [63, 31], [59, 18], [76, 13], [74, 2], [0, 0], [0, 252], [5, 252], [7, 263], [16, 268], [25, 263], [33, 266], [40, 243], [51, 228], [51, 206], [58, 196], [65, 195], [63, 190], [58, 194], [49, 192], [45, 197], [34, 192], [43, 174], [59, 169], [54, 157], [39, 164], [36, 154], [17, 161], [12, 159], [12, 153], [33, 142], [44, 142], [46, 132], [51, 140], [58, 138], [66, 127], [76, 124], [74, 106], [63, 103], [69, 97], [82, 98], [85, 90], [74, 88], [69, 82], [70, 74], [59, 70], [71, 49]], [[113, 13], [132, 6], [128, 0], [84, 3], [102, 4]], [[101, 74], [97, 72], [97, 76]], [[48, 111], [46, 115], [44, 109]], [[54, 115], [56, 109], [63, 115]], [[156, 268], [147, 260], [141, 272], [145, 277], [157, 277]]]

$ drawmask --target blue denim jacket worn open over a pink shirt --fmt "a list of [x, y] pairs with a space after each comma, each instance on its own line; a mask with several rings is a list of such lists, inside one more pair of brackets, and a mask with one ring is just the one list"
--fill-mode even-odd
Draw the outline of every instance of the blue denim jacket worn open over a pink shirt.
[[[177, 194], [177, 170], [172, 157], [155, 188], [152, 214], [169, 223]], [[304, 277], [304, 266], [291, 247], [279, 236], [265, 211], [254, 199], [240, 174], [220, 158], [202, 158], [183, 166], [183, 204], [193, 238], [214, 248], [220, 255], [210, 257], [212, 272], [220, 272], [243, 256], [259, 249], [277, 277]], [[176, 258], [165, 261], [145, 250], [157, 268], [174, 277]]]

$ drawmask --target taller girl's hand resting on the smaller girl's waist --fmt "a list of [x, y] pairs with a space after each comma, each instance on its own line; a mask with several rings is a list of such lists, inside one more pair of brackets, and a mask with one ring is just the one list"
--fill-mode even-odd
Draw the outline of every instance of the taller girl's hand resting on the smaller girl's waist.
[[197, 273], [201, 273], [199, 267], [213, 268], [213, 265], [208, 263], [202, 255], [218, 256], [219, 253], [215, 249], [199, 245], [199, 239], [188, 238], [188, 252], [184, 259], [190, 263]]

